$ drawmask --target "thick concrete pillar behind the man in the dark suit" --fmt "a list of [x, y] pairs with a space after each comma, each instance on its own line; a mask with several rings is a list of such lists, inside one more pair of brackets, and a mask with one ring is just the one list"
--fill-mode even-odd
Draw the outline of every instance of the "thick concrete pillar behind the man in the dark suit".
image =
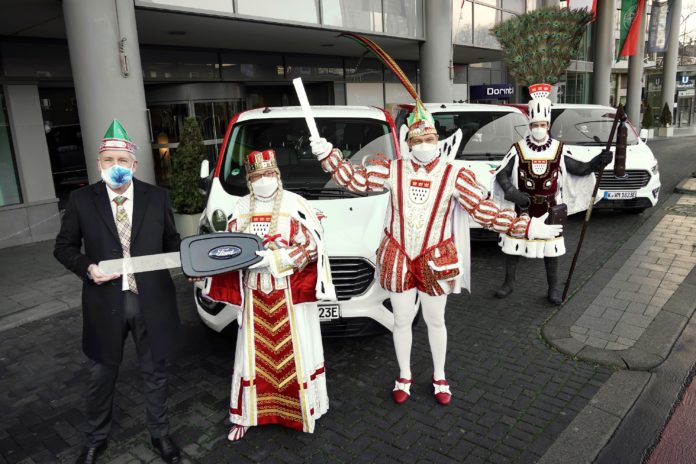
[[[63, 16], [90, 182], [101, 178], [99, 141], [116, 118], [139, 147], [136, 177], [154, 183], [133, 0], [63, 0]], [[128, 76], [121, 72], [121, 38]]]

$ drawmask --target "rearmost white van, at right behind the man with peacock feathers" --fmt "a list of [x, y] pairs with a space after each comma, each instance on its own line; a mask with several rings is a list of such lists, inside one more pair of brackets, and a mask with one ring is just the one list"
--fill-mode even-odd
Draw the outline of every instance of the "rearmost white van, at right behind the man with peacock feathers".
[[[573, 158], [589, 161], [606, 145], [615, 114], [616, 109], [610, 106], [554, 104], [551, 136], [564, 142]], [[613, 162], [604, 169], [597, 192], [601, 200], [595, 209], [639, 213], [657, 203], [660, 193], [657, 159], [636, 129], [627, 124], [626, 175], [617, 178]]]

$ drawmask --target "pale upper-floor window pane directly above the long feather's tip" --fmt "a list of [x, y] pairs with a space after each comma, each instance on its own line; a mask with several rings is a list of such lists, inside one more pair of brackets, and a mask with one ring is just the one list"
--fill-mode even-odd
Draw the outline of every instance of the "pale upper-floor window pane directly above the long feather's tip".
[[382, 32], [382, 0], [322, 0], [324, 24]]

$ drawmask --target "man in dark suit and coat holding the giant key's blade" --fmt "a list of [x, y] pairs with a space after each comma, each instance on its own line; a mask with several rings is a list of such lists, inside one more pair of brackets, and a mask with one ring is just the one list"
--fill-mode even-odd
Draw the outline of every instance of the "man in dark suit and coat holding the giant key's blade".
[[[167, 462], [179, 462], [169, 435], [165, 359], [181, 329], [174, 283], [166, 270], [104, 274], [102, 260], [179, 250], [180, 237], [166, 190], [133, 179], [135, 145], [117, 120], [102, 140], [97, 162], [103, 182], [70, 196], [54, 256], [83, 280], [82, 349], [91, 360], [86, 395], [87, 443], [78, 463], [94, 463], [106, 448], [116, 377], [130, 331], [135, 342], [147, 427]], [[84, 246], [84, 251], [82, 247]]]

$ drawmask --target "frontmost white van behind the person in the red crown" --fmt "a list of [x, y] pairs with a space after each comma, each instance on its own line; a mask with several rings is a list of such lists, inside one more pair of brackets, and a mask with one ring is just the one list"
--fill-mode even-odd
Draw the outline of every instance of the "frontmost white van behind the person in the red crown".
[[[365, 157], [398, 156], [394, 122], [385, 111], [373, 107], [313, 107], [319, 133], [344, 158], [359, 164]], [[339, 188], [316, 160], [309, 146], [309, 132], [300, 107], [270, 107], [236, 115], [227, 129], [217, 166], [209, 173], [204, 161], [201, 177], [209, 189], [201, 215], [201, 232], [224, 230], [236, 201], [248, 193], [242, 160], [252, 150], [272, 148], [281, 171], [283, 188], [296, 192], [321, 211], [326, 247], [338, 301], [319, 303], [324, 336], [365, 335], [391, 330], [394, 317], [389, 296], [374, 279], [375, 253], [379, 246], [389, 195], [385, 192], [354, 194]], [[213, 302], [195, 289], [203, 322], [220, 332], [236, 321], [240, 308]]]

